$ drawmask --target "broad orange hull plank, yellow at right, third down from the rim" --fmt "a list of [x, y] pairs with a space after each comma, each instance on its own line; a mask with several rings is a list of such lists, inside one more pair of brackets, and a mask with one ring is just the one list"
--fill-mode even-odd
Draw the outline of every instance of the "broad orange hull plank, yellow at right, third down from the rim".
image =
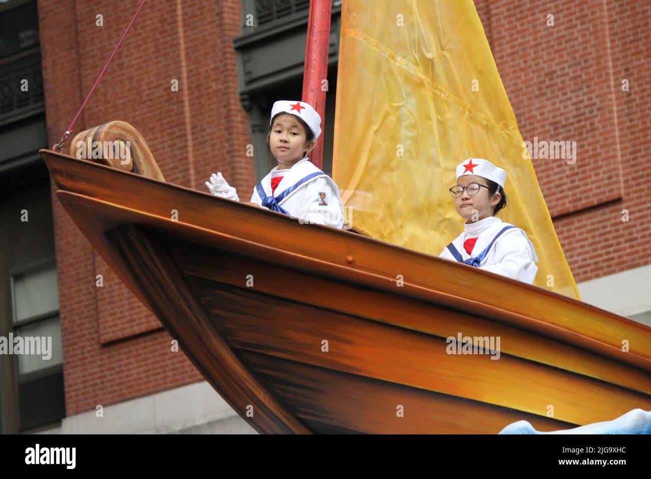
[[651, 394], [519, 357], [449, 355], [445, 338], [262, 295], [255, 287], [201, 280], [192, 285], [202, 293], [217, 330], [238, 350], [532, 414], [544, 415], [552, 405], [555, 418], [572, 424], [608, 420], [636, 407], [651, 409]]

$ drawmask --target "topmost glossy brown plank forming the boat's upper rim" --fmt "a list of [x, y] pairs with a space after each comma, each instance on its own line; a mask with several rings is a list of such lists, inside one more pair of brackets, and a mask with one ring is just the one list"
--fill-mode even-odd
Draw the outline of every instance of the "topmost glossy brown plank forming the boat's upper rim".
[[[498, 319], [651, 371], [651, 328], [589, 304], [348, 231], [301, 225], [269, 210], [41, 152], [61, 190], [139, 212], [150, 224], [204, 244], [384, 291], [395, 290], [403, 274], [405, 297]], [[171, 210], [178, 210], [177, 222]], [[622, 354], [622, 340], [630, 343], [628, 353]]]

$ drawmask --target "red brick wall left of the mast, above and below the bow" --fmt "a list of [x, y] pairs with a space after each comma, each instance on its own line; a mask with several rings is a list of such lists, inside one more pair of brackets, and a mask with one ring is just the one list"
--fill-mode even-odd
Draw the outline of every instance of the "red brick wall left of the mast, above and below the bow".
[[[49, 145], [61, 138], [140, 3], [38, 3]], [[103, 27], [96, 26], [98, 14]], [[146, 3], [74, 134], [127, 121], [143, 134], [167, 181], [204, 191], [210, 173], [222, 171], [250, 192], [249, 120], [238, 101], [232, 48], [239, 31], [237, 0]], [[173, 79], [179, 91], [172, 91]], [[200, 381], [54, 196], [53, 210], [68, 415]], [[104, 275], [104, 287], [96, 287], [96, 274]]]

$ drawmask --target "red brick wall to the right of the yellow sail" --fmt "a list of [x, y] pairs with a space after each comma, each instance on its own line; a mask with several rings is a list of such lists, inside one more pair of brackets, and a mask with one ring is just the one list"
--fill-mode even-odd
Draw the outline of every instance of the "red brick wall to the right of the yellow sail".
[[651, 2], [475, 5], [523, 138], [577, 142], [574, 165], [533, 160], [575, 280], [651, 263]]

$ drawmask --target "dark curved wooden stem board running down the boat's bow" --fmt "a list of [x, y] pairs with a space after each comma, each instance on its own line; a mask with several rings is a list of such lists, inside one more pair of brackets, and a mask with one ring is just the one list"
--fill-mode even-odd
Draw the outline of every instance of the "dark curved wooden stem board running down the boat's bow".
[[255, 417], [251, 425], [258, 432], [309, 432], [255, 380], [210, 327], [206, 311], [164, 244], [133, 225], [111, 229], [105, 235], [172, 338], [240, 416], [246, 418], [247, 407], [251, 407]]

